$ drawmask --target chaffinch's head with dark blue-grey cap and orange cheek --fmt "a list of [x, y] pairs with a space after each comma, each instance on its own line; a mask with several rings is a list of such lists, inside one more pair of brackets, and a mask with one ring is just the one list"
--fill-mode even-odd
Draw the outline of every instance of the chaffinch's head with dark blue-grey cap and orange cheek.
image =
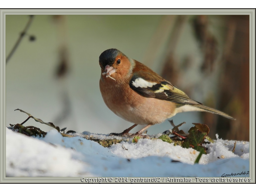
[[128, 75], [131, 69], [130, 60], [121, 51], [111, 48], [101, 53], [99, 58], [101, 75], [117, 80], [123, 75]]

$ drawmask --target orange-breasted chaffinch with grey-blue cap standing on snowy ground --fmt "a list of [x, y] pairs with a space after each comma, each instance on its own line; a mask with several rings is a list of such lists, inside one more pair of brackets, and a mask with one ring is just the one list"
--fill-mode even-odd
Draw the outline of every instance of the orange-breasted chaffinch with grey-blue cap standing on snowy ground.
[[99, 64], [100, 90], [105, 104], [118, 117], [134, 123], [116, 135], [126, 135], [138, 124], [147, 125], [133, 134], [139, 135], [151, 125], [162, 123], [179, 112], [211, 112], [235, 120], [224, 112], [190, 99], [146, 65], [129, 59], [117, 49], [101, 53]]

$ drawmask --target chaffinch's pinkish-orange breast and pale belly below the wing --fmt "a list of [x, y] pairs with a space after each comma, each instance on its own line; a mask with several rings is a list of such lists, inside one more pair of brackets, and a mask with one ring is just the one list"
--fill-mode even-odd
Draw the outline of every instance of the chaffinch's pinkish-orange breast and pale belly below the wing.
[[101, 77], [100, 90], [107, 107], [118, 117], [134, 124], [156, 124], [176, 114], [170, 101], [140, 96], [128, 83]]

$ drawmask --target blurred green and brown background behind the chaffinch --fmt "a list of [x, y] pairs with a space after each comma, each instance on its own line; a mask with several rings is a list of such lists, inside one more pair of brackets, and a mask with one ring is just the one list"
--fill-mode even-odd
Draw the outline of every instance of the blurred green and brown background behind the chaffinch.
[[[31, 20], [30, 20], [31, 19]], [[192, 99], [237, 120], [203, 112], [179, 113], [175, 124], [205, 123], [210, 136], [249, 140], [249, 16], [7, 15], [6, 123], [31, 113], [76, 132], [120, 133], [132, 123], [104, 104], [99, 90], [100, 54], [117, 48], [146, 64]], [[46, 125], [29, 120], [44, 131]], [[134, 128], [138, 131], [142, 126]], [[148, 134], [172, 128], [168, 121]]]

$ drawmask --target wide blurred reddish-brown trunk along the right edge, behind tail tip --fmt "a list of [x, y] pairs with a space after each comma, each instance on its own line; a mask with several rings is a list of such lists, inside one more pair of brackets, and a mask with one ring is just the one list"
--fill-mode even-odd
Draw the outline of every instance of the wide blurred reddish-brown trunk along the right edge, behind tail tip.
[[223, 139], [249, 140], [250, 128], [250, 18], [229, 16], [226, 19], [226, 42], [221, 60], [219, 110], [236, 121], [218, 118], [217, 132]]

